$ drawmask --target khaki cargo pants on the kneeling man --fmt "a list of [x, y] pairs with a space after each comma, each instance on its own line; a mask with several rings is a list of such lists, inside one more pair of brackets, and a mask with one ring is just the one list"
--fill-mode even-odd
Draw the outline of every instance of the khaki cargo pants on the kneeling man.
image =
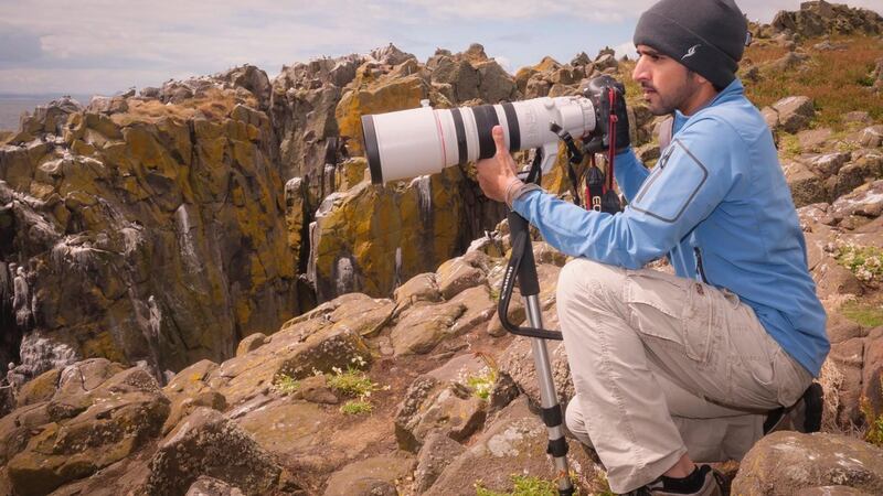
[[562, 269], [557, 311], [576, 388], [567, 428], [594, 446], [616, 493], [684, 453], [741, 460], [766, 412], [812, 380], [748, 305], [694, 280], [577, 259]]

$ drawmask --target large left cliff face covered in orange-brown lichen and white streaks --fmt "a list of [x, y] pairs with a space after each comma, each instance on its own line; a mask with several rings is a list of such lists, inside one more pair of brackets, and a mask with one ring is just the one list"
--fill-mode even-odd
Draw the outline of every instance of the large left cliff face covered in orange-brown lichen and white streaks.
[[162, 371], [297, 314], [258, 105], [219, 80], [173, 105], [61, 101], [28, 119], [0, 148], [0, 258], [26, 291], [14, 332]]

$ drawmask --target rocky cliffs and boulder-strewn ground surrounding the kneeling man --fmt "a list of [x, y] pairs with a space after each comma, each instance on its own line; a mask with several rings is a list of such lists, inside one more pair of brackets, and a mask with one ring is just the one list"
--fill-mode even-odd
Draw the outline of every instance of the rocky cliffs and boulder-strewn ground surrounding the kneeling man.
[[[741, 76], [833, 346], [825, 432], [721, 465], [733, 494], [883, 490], [881, 30], [826, 2], [752, 24]], [[603, 51], [509, 76], [478, 45], [426, 63], [385, 47], [38, 109], [0, 147], [0, 358], [18, 364], [0, 494], [554, 494], [530, 342], [494, 314], [499, 205], [470, 166], [369, 184], [359, 116], [565, 95], [631, 64]], [[629, 104], [651, 164], [660, 119]], [[560, 168], [544, 184], [570, 194]], [[566, 258], [539, 238], [534, 256], [554, 328]], [[572, 441], [568, 459], [603, 494], [593, 453]]]

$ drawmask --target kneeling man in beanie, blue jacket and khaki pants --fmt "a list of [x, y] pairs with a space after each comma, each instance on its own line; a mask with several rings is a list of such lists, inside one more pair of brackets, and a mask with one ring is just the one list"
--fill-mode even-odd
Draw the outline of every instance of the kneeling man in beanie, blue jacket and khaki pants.
[[[732, 0], [662, 0], [641, 15], [632, 77], [653, 114], [673, 112], [673, 137], [646, 170], [618, 99], [621, 214], [521, 183], [499, 128], [497, 155], [478, 163], [488, 197], [578, 257], [557, 287], [576, 389], [566, 420], [617, 493], [719, 495], [694, 460], [740, 460], [770, 411], [818, 400], [806, 395], [826, 316], [772, 134], [735, 77], [746, 36]], [[641, 269], [663, 256], [677, 277]]]

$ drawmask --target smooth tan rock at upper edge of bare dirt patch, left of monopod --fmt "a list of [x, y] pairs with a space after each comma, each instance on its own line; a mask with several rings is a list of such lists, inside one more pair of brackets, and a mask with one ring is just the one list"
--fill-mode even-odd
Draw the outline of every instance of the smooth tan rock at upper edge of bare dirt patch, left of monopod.
[[390, 335], [395, 356], [426, 354], [446, 337], [454, 336], [454, 323], [466, 313], [466, 305], [450, 302], [443, 305], [412, 306]]

